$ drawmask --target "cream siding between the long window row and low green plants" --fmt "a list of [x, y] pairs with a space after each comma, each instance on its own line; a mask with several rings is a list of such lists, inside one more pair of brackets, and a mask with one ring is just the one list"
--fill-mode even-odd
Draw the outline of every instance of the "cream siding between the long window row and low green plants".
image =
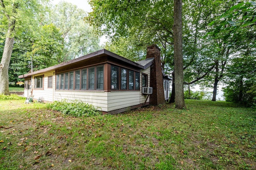
[[79, 100], [88, 104], [92, 104], [94, 107], [100, 107], [102, 111], [107, 111], [108, 107], [108, 94], [107, 92], [85, 92], [75, 90], [56, 90], [55, 101], [61, 101], [67, 99], [68, 102]]

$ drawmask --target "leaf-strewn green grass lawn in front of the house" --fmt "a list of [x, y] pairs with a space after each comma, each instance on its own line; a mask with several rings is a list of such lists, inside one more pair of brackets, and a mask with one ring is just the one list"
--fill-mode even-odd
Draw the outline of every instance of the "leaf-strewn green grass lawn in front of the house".
[[256, 110], [186, 100], [119, 115], [66, 117], [0, 101], [0, 169], [256, 169]]

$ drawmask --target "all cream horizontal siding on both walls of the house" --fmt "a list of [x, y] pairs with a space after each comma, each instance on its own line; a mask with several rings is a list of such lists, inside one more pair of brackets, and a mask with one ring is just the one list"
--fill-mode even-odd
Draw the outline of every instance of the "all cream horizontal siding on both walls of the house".
[[[146, 70], [143, 70], [143, 73], [148, 75], [148, 86], [150, 86], [150, 67]], [[35, 75], [33, 77], [36, 76], [40, 75]], [[53, 76], [52, 88], [48, 88], [48, 76]], [[34, 89], [33, 95], [35, 100], [42, 97], [43, 101], [48, 102], [61, 101], [63, 99], [66, 99], [68, 102], [79, 100], [81, 102], [92, 104], [94, 107], [100, 107], [100, 110], [108, 112], [144, 103], [147, 95], [142, 96], [141, 83], [140, 73], [140, 91], [103, 92], [83, 90], [55, 90], [55, 74], [54, 72], [48, 72], [44, 74], [44, 88]], [[147, 102], [149, 102], [149, 98]]]

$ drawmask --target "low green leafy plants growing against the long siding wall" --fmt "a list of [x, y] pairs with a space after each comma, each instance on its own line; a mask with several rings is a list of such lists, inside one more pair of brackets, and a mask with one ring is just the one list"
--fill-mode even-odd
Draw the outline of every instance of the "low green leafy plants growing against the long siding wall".
[[60, 111], [65, 115], [70, 115], [74, 117], [89, 117], [92, 115], [99, 115], [101, 111], [97, 110], [91, 104], [87, 104], [78, 100], [75, 100], [72, 103], [67, 102], [66, 100], [62, 100], [61, 102], [53, 102], [51, 104], [47, 104], [48, 109], [53, 109], [55, 111]]

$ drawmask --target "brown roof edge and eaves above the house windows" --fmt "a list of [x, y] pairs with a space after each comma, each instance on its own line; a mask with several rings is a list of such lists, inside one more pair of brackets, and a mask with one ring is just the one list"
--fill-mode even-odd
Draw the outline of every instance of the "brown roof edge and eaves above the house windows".
[[144, 67], [138, 63], [135, 63], [133, 61], [130, 61], [124, 57], [121, 57], [120, 55], [117, 55], [115, 53], [112, 53], [106, 49], [101, 49], [99, 51], [96, 51], [96, 52], [93, 52], [93, 53], [90, 53], [88, 55], [84, 55], [82, 57], [79, 57], [77, 59], [73, 59], [73, 60], [70, 60], [68, 62], [65, 62], [65, 63], [60, 63], [60, 64], [57, 64], [55, 66], [50, 66], [48, 68], [44, 68], [42, 70], [38, 70], [38, 71], [35, 71], [35, 72], [32, 72], [32, 73], [28, 73], [28, 74], [23, 74], [23, 75], [20, 75], [18, 76], [19, 78], [26, 78], [26, 77], [29, 77], [29, 76], [32, 76], [32, 75], [35, 75], [35, 74], [42, 74], [44, 72], [49, 72], [49, 71], [54, 71], [56, 70], [57, 68], [61, 68], [61, 67], [64, 67], [64, 66], [68, 66], [70, 64], [74, 64], [74, 63], [78, 63], [80, 61], [84, 61], [86, 59], [90, 59], [92, 57], [96, 57], [96, 56], [99, 56], [99, 55], [106, 55], [106, 56], [109, 56], [109, 57], [112, 57], [114, 59], [117, 59], [117, 60], [120, 60], [120, 61], [123, 61], [125, 63], [128, 63], [128, 64], [131, 64], [133, 66], [136, 66], [140, 69], [143, 69]]

